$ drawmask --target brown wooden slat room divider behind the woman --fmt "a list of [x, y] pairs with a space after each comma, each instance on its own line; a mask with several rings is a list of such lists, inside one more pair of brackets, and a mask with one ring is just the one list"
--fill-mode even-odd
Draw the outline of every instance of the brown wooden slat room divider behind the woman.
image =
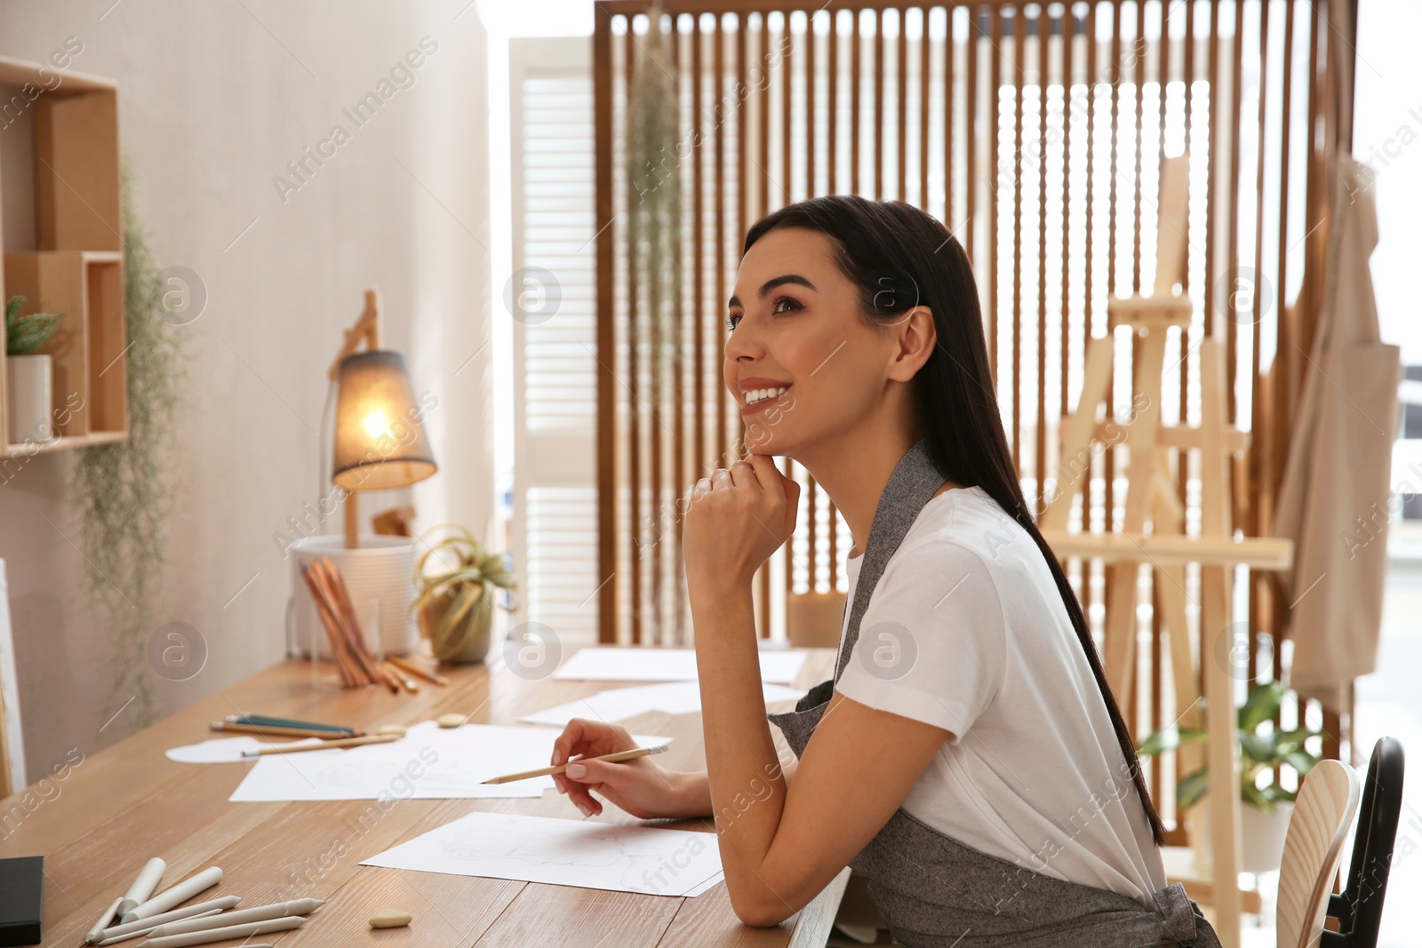
[[[1223, 338], [1230, 421], [1256, 432], [1233, 470], [1233, 522], [1268, 533], [1320, 298], [1325, 175], [1351, 135], [1337, 94], [1352, 70], [1351, 3], [665, 0], [654, 11], [647, 0], [602, 0], [596, 10], [603, 641], [690, 640], [677, 503], [698, 476], [747, 453], [721, 382], [741, 242], [759, 216], [823, 193], [907, 200], [967, 249], [1014, 460], [1041, 509], [1085, 340], [1106, 334], [1109, 296], [1153, 279], [1159, 161], [1189, 152], [1183, 289], [1194, 317], [1167, 343], [1162, 421], [1196, 421], [1199, 343]], [[681, 195], [670, 323], [648, 311], [627, 246], [641, 198], [624, 148], [638, 64], [680, 102], [677, 139], [640, 156]], [[1115, 345], [1112, 404], [1123, 421], [1132, 340], [1118, 334]], [[1197, 512], [1189, 465], [1176, 452], [1172, 465]], [[846, 587], [843, 522], [803, 469], [784, 459], [782, 469], [802, 480], [802, 510], [791, 549], [758, 583], [762, 635], [784, 631], [786, 597]], [[1092, 460], [1085, 523], [1119, 526], [1122, 478], [1113, 448]], [[1103, 570], [1068, 567], [1099, 630]], [[1187, 578], [1196, 603], [1197, 577]], [[1268, 665], [1277, 674], [1281, 650], [1270, 645], [1287, 604], [1261, 576], [1239, 586], [1249, 596], [1241, 678]], [[1149, 590], [1140, 601], [1158, 598]], [[1159, 631], [1159, 618], [1145, 620], [1126, 708], [1138, 733], [1175, 716]], [[1224, 631], [1200, 637], [1202, 661], [1214, 661]], [[1158, 793], [1173, 786], [1169, 763], [1152, 766]]]

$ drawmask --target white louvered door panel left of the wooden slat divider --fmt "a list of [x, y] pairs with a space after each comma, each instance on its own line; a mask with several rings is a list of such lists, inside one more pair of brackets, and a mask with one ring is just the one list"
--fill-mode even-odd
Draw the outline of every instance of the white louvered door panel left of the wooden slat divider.
[[593, 80], [587, 38], [509, 41], [512, 632], [597, 641]]

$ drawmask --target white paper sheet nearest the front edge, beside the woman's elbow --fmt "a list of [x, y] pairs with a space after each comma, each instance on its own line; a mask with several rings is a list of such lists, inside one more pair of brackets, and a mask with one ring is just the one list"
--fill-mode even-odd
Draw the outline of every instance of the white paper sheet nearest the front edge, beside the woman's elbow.
[[471, 813], [361, 866], [687, 897], [722, 878], [714, 833], [512, 813]]

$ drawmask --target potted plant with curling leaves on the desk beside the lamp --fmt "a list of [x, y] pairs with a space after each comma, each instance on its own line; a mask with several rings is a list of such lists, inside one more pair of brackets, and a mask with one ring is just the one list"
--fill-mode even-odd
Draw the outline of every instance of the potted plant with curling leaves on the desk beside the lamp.
[[[445, 536], [438, 537], [439, 533]], [[422, 537], [414, 608], [435, 658], [478, 662], [489, 652], [495, 590], [515, 587], [503, 553], [489, 553], [465, 527], [442, 523]], [[508, 607], [506, 607], [508, 608]]]

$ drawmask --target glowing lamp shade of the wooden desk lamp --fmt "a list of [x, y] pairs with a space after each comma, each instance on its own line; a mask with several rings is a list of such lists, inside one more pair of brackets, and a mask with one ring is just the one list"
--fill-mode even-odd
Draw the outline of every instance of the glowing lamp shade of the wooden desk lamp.
[[331, 480], [347, 490], [404, 488], [435, 468], [424, 411], [400, 352], [375, 350], [341, 360]]

